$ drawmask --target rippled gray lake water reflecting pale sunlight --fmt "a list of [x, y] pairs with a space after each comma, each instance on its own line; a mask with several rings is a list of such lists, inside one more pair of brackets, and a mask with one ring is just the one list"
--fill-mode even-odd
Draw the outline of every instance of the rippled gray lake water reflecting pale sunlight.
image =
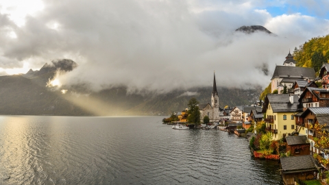
[[162, 118], [0, 116], [0, 184], [282, 184], [245, 138]]

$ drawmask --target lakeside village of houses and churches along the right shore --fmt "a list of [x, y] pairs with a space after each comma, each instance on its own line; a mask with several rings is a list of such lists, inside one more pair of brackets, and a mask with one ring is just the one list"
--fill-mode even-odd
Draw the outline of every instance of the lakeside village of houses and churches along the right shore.
[[249, 106], [219, 108], [214, 73], [211, 103], [197, 104], [199, 124], [188, 123], [188, 108], [173, 112], [170, 123], [245, 136], [255, 158], [280, 161], [284, 184], [329, 184], [329, 63], [319, 75], [295, 64], [289, 51], [271, 93]]

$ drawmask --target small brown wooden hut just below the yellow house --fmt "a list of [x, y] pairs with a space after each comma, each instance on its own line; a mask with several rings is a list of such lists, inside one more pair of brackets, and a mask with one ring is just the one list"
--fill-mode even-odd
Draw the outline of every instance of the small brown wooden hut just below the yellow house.
[[307, 136], [287, 136], [287, 151], [291, 156], [310, 155], [310, 142]]

